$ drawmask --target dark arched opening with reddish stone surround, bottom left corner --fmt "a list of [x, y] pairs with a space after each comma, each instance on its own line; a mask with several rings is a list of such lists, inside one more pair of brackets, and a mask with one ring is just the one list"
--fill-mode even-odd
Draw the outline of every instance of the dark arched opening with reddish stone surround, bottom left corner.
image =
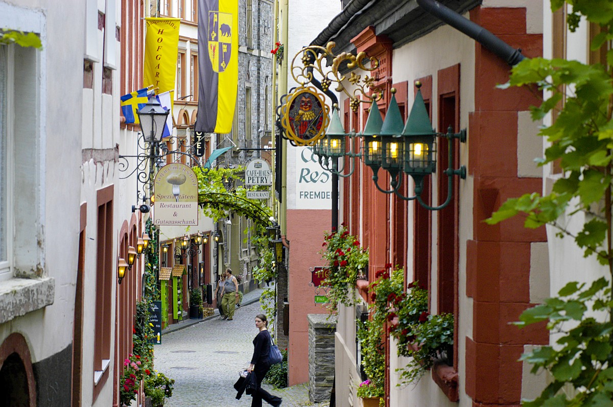
[[0, 346], [0, 407], [36, 406], [36, 384], [30, 351], [20, 333]]

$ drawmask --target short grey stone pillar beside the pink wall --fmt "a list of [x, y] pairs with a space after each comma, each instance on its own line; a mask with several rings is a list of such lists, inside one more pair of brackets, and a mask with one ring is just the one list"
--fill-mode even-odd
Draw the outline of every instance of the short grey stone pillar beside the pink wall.
[[334, 383], [334, 333], [336, 319], [308, 314], [308, 396], [311, 402], [330, 400]]

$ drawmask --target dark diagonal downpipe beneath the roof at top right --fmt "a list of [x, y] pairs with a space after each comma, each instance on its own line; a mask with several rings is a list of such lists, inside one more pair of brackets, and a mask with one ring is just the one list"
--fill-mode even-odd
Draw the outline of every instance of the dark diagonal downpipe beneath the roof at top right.
[[449, 9], [449, 7], [443, 6], [440, 2], [436, 0], [416, 1], [419, 7], [458, 31], [463, 32], [476, 42], [479, 42], [479, 44], [492, 51], [494, 55], [506, 61], [510, 66], [519, 64], [522, 59], [525, 58], [524, 55], [522, 55], [522, 50], [516, 50], [511, 47], [511, 45], [506, 44], [506, 42], [487, 31], [487, 29], [473, 23], [473, 21]]

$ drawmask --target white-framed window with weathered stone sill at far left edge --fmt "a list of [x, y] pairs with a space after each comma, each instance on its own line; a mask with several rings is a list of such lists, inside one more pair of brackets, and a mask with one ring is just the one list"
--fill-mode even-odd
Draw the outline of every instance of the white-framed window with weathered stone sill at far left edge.
[[[0, 45], [0, 323], [51, 305], [55, 279], [47, 275], [41, 219], [46, 174], [44, 99], [47, 77], [45, 14], [0, 1], [0, 26], [35, 32], [42, 48]], [[41, 32], [42, 31], [42, 32]], [[48, 97], [48, 96], [47, 96]], [[26, 115], [26, 116], [24, 116]], [[16, 135], [27, 135], [17, 137]], [[18, 157], [19, 159], [15, 159]], [[27, 205], [16, 203], [27, 202]], [[43, 240], [44, 242], [44, 240]], [[20, 281], [13, 280], [19, 275]], [[10, 287], [10, 290], [6, 290]]]

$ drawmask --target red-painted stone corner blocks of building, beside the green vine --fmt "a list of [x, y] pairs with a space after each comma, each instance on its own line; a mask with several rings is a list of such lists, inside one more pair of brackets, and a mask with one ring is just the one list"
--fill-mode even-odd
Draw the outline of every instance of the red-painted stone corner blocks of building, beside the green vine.
[[[542, 36], [527, 34], [524, 8], [481, 8], [471, 20], [525, 56], [542, 54]], [[483, 222], [510, 197], [541, 191], [541, 178], [517, 177], [517, 112], [538, 104], [526, 89], [497, 89], [509, 67], [475, 45], [475, 111], [470, 113], [468, 172], [474, 178], [473, 240], [466, 242], [466, 296], [473, 302], [473, 336], [466, 338], [465, 390], [473, 406], [518, 406], [524, 344], [549, 343], [540, 327], [509, 322], [530, 304], [530, 248], [546, 241], [544, 227], [525, 229], [516, 218], [497, 226]], [[460, 379], [461, 380], [461, 379]]]

